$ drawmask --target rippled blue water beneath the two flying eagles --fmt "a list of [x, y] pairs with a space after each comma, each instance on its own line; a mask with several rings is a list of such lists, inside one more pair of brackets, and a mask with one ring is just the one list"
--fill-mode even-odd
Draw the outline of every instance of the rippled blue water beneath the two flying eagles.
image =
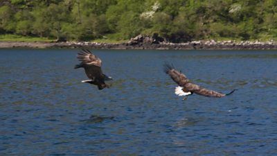
[[[277, 155], [277, 51], [0, 49], [0, 155]], [[224, 98], [175, 96], [163, 62]]]

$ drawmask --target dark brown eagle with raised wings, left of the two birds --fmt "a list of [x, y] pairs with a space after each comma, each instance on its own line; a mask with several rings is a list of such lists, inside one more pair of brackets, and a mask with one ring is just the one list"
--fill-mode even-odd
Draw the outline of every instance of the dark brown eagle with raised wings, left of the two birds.
[[76, 64], [74, 69], [84, 68], [89, 80], [82, 80], [82, 83], [90, 83], [97, 85], [98, 89], [109, 87], [105, 80], [112, 80], [111, 77], [106, 76], [101, 70], [101, 60], [96, 55], [93, 55], [89, 50], [82, 49], [77, 55], [80, 64]]

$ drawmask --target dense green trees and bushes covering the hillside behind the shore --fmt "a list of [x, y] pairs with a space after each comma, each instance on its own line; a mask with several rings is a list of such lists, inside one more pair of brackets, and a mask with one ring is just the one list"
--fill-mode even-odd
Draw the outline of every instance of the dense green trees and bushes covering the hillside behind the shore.
[[277, 39], [276, 0], [0, 0], [0, 34], [57, 40]]

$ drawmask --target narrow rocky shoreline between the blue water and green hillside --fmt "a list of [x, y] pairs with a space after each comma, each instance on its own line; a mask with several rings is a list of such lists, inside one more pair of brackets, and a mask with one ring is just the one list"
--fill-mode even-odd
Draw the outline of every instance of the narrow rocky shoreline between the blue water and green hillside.
[[30, 48], [30, 49], [160, 49], [160, 50], [190, 50], [190, 49], [217, 49], [217, 50], [242, 50], [242, 49], [277, 49], [277, 42], [233, 42], [222, 41], [194, 41], [186, 43], [168, 43], [159, 44], [150, 43], [98, 43], [98, 42], [0, 42], [0, 49], [10, 48]]

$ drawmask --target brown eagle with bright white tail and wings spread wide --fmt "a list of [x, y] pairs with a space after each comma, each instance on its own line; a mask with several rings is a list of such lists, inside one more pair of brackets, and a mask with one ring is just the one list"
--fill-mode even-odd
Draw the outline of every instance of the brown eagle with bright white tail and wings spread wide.
[[170, 65], [168, 63], [164, 64], [163, 70], [172, 78], [172, 80], [175, 81], [175, 83], [179, 85], [175, 88], [175, 94], [177, 94], [178, 96], [185, 96], [184, 99], [186, 99], [188, 95], [191, 95], [193, 93], [202, 96], [221, 98], [229, 94], [232, 94], [236, 90], [234, 89], [229, 94], [222, 94], [220, 92], [215, 92], [213, 90], [202, 88], [199, 85], [190, 83], [190, 80], [188, 80], [184, 73], [175, 70], [173, 65]]

